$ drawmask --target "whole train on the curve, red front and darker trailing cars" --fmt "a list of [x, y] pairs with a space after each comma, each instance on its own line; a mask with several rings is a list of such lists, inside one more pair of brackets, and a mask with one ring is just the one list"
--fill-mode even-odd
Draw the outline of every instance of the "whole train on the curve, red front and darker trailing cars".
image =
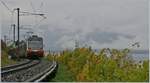
[[44, 57], [44, 50], [43, 50], [43, 38], [38, 37], [37, 35], [32, 35], [25, 40], [19, 42], [19, 49], [18, 43], [12, 44], [10, 46], [8, 54], [12, 58], [40, 58]]

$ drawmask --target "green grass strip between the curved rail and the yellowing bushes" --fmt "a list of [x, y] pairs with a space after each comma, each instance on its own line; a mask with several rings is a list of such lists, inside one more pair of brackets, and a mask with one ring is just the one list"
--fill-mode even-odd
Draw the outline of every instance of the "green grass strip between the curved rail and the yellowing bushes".
[[74, 82], [75, 77], [68, 71], [67, 66], [60, 63], [56, 73], [56, 77], [51, 80], [52, 82]]

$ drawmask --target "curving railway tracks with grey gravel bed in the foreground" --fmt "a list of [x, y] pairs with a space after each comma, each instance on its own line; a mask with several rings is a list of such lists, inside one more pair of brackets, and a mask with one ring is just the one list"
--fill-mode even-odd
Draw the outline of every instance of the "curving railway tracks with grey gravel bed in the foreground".
[[55, 61], [31, 60], [20, 65], [2, 68], [2, 82], [39, 82], [56, 69]]

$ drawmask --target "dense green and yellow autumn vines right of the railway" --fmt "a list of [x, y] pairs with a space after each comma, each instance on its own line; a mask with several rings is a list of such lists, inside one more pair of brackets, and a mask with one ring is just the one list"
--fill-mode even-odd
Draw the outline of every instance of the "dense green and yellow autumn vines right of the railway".
[[83, 47], [65, 50], [55, 57], [49, 55], [48, 58], [67, 66], [77, 82], [149, 81], [149, 60], [135, 63], [129, 53], [129, 49], [109, 48], [95, 53], [91, 48]]

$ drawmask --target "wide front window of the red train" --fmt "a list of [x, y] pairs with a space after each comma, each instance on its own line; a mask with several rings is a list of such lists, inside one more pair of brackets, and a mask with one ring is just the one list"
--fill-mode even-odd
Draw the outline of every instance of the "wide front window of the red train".
[[37, 50], [43, 48], [42, 41], [28, 41], [28, 48], [32, 50]]

